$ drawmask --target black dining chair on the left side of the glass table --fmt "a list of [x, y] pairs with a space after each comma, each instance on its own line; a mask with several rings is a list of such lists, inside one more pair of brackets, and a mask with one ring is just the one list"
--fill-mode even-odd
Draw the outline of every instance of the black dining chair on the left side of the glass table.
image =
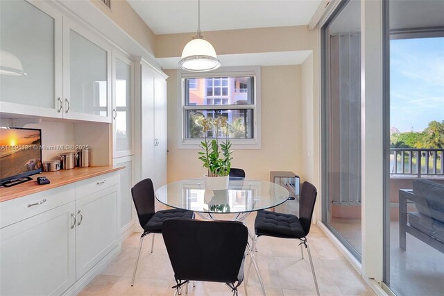
[[137, 183], [131, 188], [131, 195], [133, 195], [133, 201], [137, 211], [137, 217], [139, 217], [140, 226], [144, 229], [142, 236], [140, 236], [139, 252], [137, 252], [133, 279], [131, 280], [131, 286], [134, 286], [137, 264], [139, 263], [140, 251], [145, 236], [149, 233], [153, 233], [153, 240], [151, 242], [151, 253], [153, 253], [154, 234], [162, 233], [162, 223], [172, 218], [192, 219], [194, 218], [194, 212], [178, 208], [156, 212], [154, 209], [154, 187], [151, 179], [144, 179]]

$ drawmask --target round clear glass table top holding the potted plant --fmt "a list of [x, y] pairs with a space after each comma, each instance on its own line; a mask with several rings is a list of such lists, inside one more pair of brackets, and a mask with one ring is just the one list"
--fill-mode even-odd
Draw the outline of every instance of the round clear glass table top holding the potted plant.
[[226, 190], [205, 190], [203, 178], [198, 178], [162, 186], [155, 197], [167, 206], [195, 212], [246, 213], [279, 206], [289, 192], [276, 183], [248, 178], [230, 178]]

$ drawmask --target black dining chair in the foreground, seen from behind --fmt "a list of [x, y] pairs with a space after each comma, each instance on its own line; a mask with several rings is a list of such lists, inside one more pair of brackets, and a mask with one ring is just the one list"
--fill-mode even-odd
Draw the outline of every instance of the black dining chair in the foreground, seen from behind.
[[[241, 222], [167, 220], [162, 236], [176, 279], [176, 293], [189, 281], [226, 283], [237, 295], [244, 281], [248, 229]], [[246, 286], [245, 294], [247, 295]]]

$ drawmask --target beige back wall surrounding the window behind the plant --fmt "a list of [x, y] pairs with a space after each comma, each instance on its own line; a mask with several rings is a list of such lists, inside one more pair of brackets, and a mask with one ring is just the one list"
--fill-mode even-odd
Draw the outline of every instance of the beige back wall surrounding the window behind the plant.
[[[198, 149], [178, 149], [177, 71], [165, 71], [168, 108], [168, 182], [205, 174]], [[234, 149], [232, 167], [268, 181], [270, 171], [301, 174], [301, 67], [262, 67], [262, 149]]]

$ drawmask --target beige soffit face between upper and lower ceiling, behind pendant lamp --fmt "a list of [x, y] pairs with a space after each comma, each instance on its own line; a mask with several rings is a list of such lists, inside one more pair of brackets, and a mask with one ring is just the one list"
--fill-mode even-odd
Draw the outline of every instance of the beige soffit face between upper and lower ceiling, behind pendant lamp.
[[[203, 32], [217, 54], [249, 54], [309, 49], [308, 26], [248, 28]], [[180, 56], [183, 47], [196, 33], [155, 35], [155, 57]]]

